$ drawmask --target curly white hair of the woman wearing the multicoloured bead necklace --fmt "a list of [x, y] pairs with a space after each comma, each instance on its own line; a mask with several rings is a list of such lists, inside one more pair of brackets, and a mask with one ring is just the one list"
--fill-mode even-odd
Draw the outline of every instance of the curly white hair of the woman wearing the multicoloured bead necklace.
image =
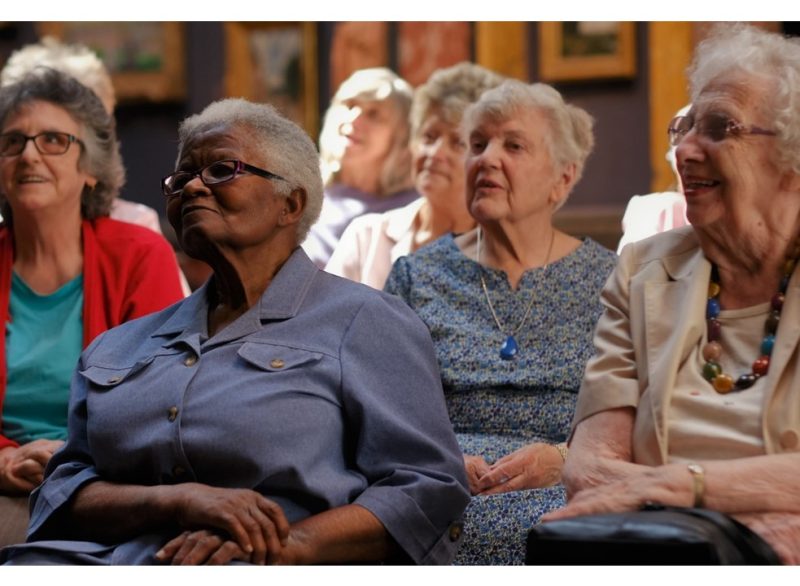
[[[771, 128], [777, 132], [781, 168], [800, 174], [800, 39], [751, 25], [715, 26], [697, 46], [688, 70], [692, 101], [715, 80], [769, 84]], [[736, 79], [739, 77], [740, 79]], [[743, 79], [750, 78], [750, 79]]]

